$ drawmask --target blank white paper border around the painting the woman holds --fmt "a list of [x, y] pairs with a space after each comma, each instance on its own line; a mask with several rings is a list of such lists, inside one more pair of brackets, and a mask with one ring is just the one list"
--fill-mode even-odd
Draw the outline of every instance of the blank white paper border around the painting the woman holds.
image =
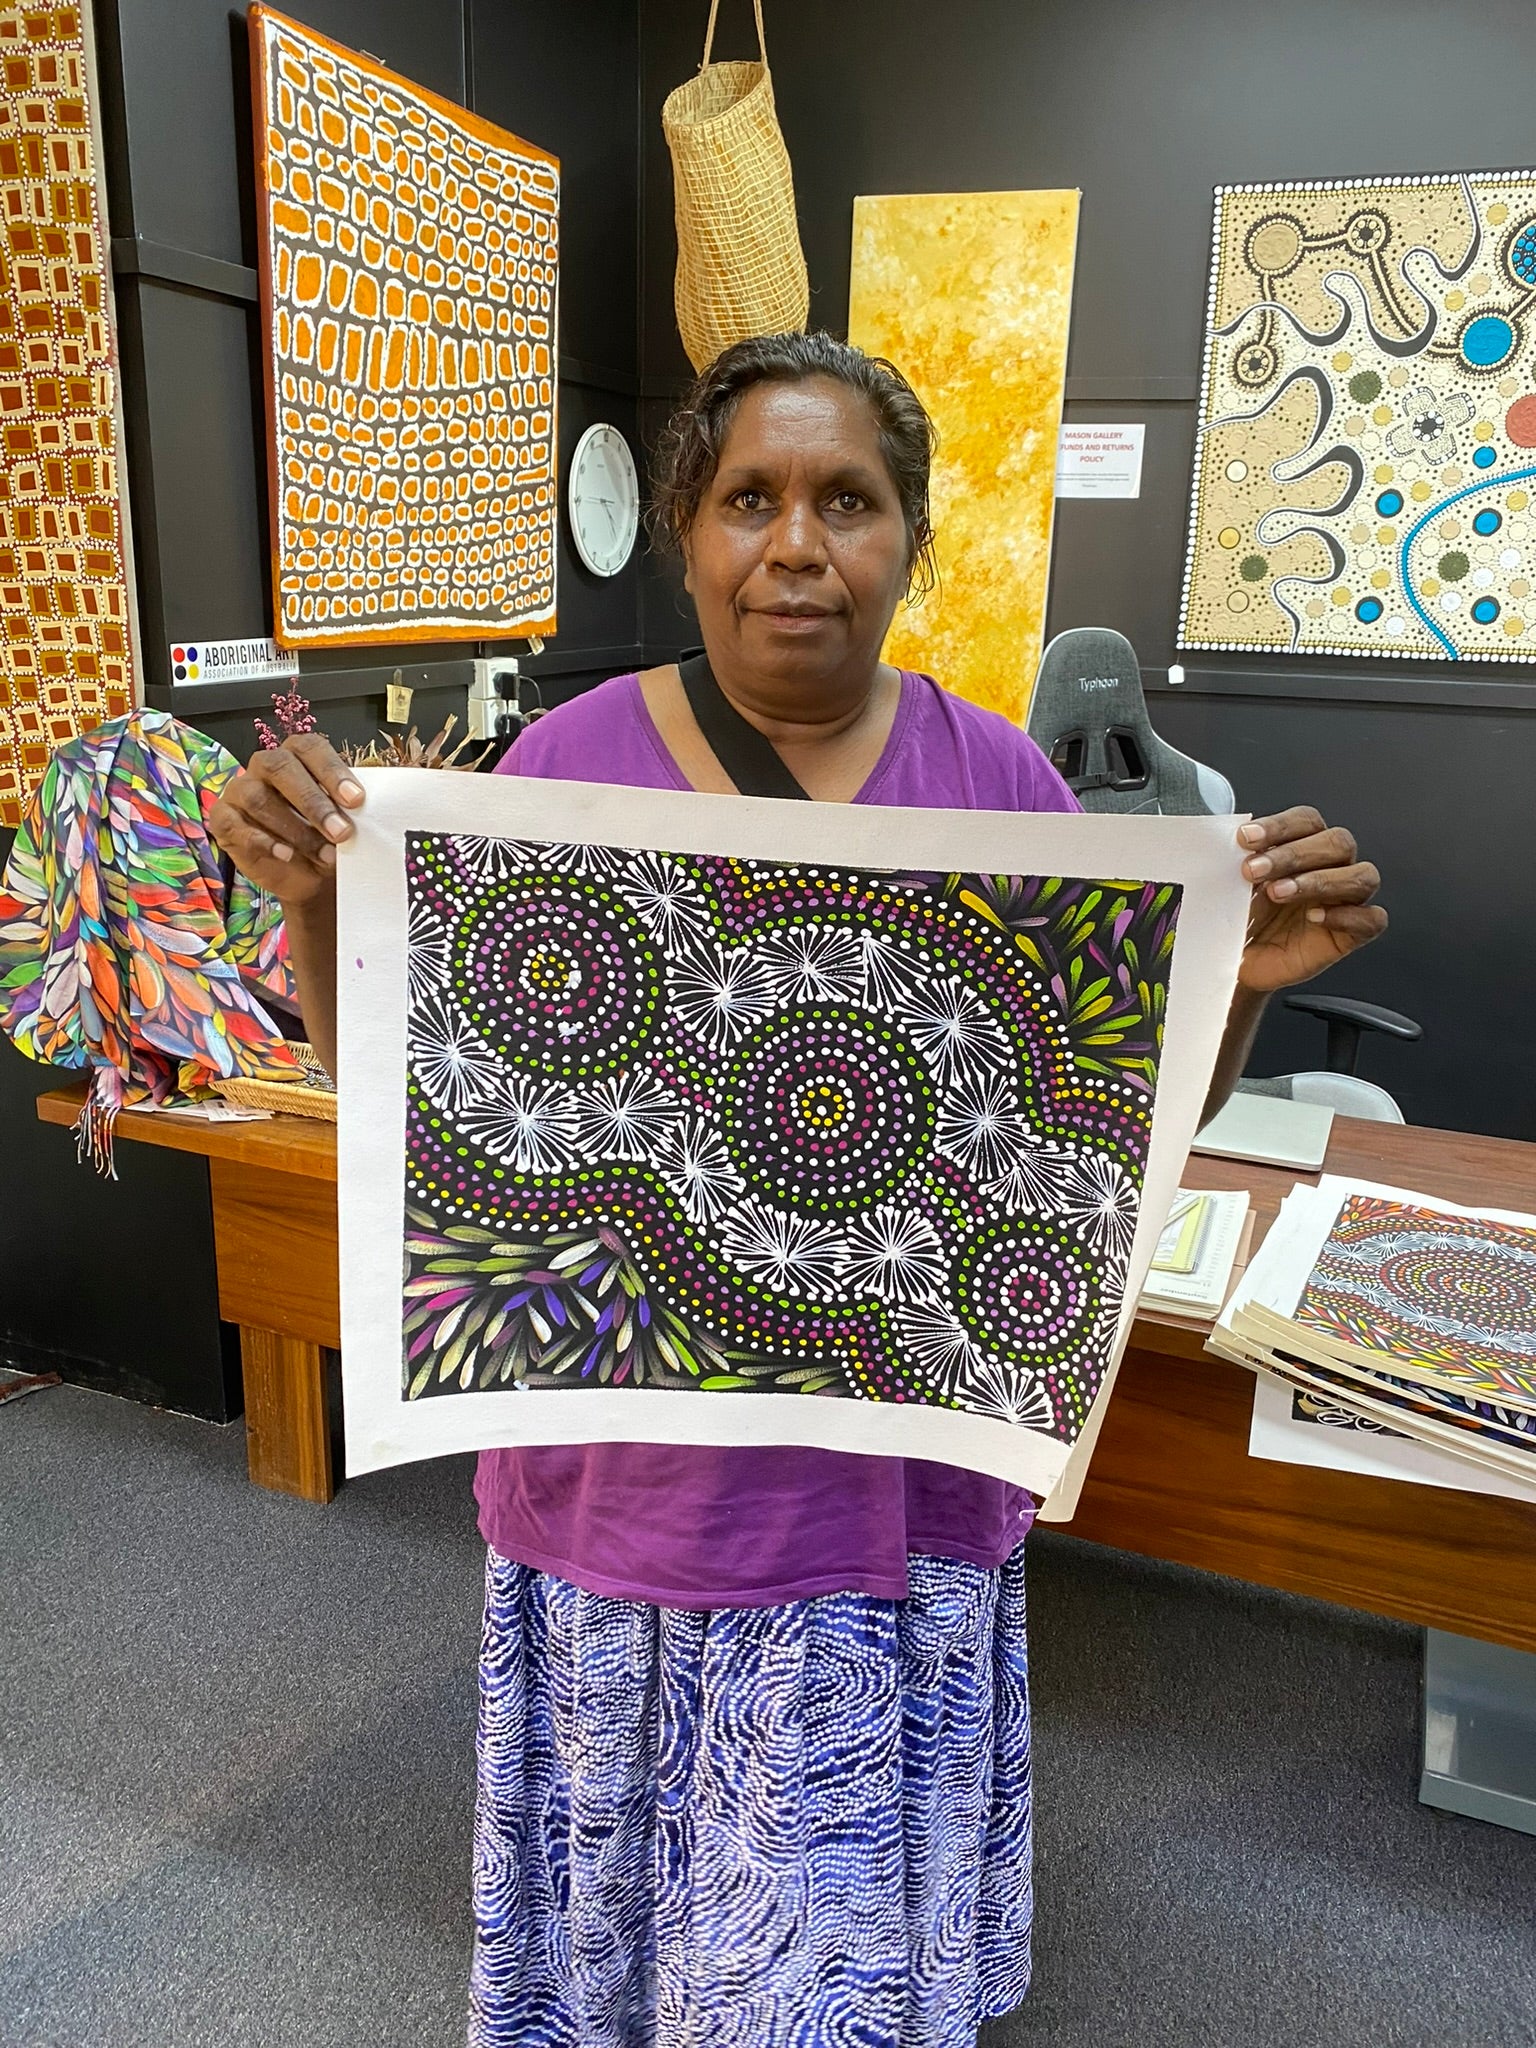
[[[891, 811], [397, 768], [365, 770], [362, 782], [369, 803], [358, 815], [356, 838], [338, 860], [348, 1470], [367, 1473], [406, 1458], [498, 1444], [807, 1444], [971, 1466], [1042, 1495], [1055, 1489], [1051, 1509], [1071, 1513], [1221, 1042], [1249, 901], [1235, 846], [1241, 821]], [[573, 872], [582, 862], [602, 866], [602, 854], [586, 850], [621, 848], [680, 860], [727, 856], [780, 864], [801, 870], [801, 881], [809, 866], [836, 864], [836, 870], [872, 879], [901, 870], [934, 879], [1128, 877], [1137, 885], [1178, 885], [1184, 899], [1141, 1202], [1114, 1303], [1102, 1311], [1098, 1325], [1106, 1346], [1104, 1370], [1098, 1399], [1075, 1434], [1075, 1450], [1071, 1434], [1061, 1430], [1051, 1434], [965, 1407], [868, 1395], [836, 1399], [823, 1393], [813, 1399], [764, 1391], [702, 1393], [698, 1386], [674, 1391], [668, 1384], [535, 1384], [471, 1386], [408, 1401], [401, 1384], [399, 1278], [408, 1192], [408, 834], [561, 848]], [[438, 846], [436, 840], [416, 844]], [[453, 858], [459, 858], [457, 852]], [[494, 866], [496, 858], [487, 872]], [[909, 887], [922, 891], [922, 883]], [[1130, 885], [1116, 881], [1110, 887]], [[1020, 950], [1026, 950], [1022, 942]], [[666, 963], [664, 975], [672, 973], [674, 965]], [[666, 983], [668, 989], [672, 985]], [[1034, 989], [1032, 999], [1038, 1001], [1038, 977]], [[725, 1053], [721, 1059], [727, 1063]], [[1130, 1094], [1124, 1087], [1126, 1100]], [[1083, 1141], [1083, 1155], [1087, 1149]]]

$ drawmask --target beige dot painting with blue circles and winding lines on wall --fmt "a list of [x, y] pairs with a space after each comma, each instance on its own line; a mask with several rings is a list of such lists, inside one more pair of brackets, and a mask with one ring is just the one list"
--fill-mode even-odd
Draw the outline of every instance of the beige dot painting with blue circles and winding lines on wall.
[[1217, 190], [1182, 647], [1536, 659], [1536, 172]]

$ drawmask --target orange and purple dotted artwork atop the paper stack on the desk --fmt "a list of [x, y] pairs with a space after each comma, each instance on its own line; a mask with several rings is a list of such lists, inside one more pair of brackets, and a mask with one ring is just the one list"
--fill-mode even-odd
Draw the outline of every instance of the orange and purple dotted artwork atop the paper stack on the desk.
[[1536, 1393], [1536, 1229], [1352, 1194], [1296, 1323], [1432, 1366], [1470, 1397]]

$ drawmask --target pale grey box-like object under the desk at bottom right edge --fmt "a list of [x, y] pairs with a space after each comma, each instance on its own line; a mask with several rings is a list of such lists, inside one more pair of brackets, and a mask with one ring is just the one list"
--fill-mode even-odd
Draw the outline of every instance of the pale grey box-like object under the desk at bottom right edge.
[[1425, 1628], [1419, 1800], [1536, 1835], [1536, 1655]]

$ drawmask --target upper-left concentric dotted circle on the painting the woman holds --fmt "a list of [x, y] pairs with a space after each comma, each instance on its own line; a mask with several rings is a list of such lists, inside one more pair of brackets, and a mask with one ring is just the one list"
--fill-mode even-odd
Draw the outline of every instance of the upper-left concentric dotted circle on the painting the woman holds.
[[453, 987], [494, 1051], [551, 1077], [631, 1059], [659, 1012], [645, 932], [616, 897], [573, 879], [502, 883], [459, 930]]

